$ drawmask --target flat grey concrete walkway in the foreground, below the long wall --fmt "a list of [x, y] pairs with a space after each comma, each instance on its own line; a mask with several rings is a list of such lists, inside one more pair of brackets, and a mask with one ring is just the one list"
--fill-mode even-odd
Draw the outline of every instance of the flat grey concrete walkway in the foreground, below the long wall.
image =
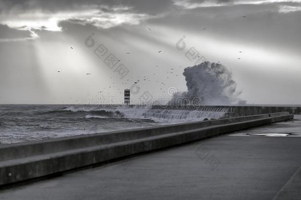
[[[301, 128], [288, 121], [281, 131], [293, 124]], [[0, 191], [0, 200], [300, 200], [300, 144], [224, 135]]]

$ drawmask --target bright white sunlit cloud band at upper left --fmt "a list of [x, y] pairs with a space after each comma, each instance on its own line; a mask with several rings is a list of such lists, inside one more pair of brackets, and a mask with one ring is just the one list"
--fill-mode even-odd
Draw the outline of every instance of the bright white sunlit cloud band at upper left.
[[[62, 31], [61, 21], [68, 21], [77, 24], [92, 24], [95, 27], [109, 29], [122, 24], [138, 25], [143, 20], [154, 18], [144, 13], [135, 13], [127, 6], [80, 6], [76, 10], [65, 11], [43, 11], [36, 10], [15, 10], [1, 13], [0, 24], [5, 24], [17, 30], [28, 30], [31, 32], [31, 39], [37, 39], [35, 30]], [[18, 39], [21, 40], [21, 39]]]

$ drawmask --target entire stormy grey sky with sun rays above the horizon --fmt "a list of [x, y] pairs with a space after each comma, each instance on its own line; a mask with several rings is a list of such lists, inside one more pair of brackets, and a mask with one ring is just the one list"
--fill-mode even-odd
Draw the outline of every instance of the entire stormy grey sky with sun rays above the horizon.
[[0, 104], [170, 97], [197, 58], [249, 104], [301, 104], [300, 55], [301, 0], [0, 0]]

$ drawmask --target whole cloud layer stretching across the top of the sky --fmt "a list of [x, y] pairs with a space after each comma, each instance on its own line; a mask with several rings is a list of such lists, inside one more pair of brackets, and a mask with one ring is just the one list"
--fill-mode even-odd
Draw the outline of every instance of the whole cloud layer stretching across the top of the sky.
[[[300, 33], [301, 26], [296, 21], [301, 20], [300, 12], [298, 12], [301, 10], [299, 3], [301, 0], [16, 0], [0, 2], [2, 2], [0, 8], [6, 10], [2, 12], [2, 16], [7, 10], [16, 12], [16, 15], [22, 13], [23, 10], [27, 20], [29, 18], [34, 22], [38, 21], [38, 26], [28, 27], [29, 30], [35, 32], [37, 30], [64, 31], [61, 22], [90, 24], [106, 29], [124, 24], [138, 25], [149, 21], [162, 26], [179, 27], [187, 32], [198, 32], [200, 28], [206, 27], [208, 31], [202, 34], [209, 33], [211, 36], [225, 39], [235, 38], [243, 42], [270, 43], [297, 49], [300, 46], [299, 35], [296, 33]], [[208, 7], [208, 3], [211, 7]], [[174, 9], [175, 7], [178, 9]], [[37, 10], [42, 11], [36, 16]], [[33, 13], [31, 17], [28, 17], [27, 11]], [[56, 15], [58, 12], [59, 15]], [[44, 20], [42, 22], [39, 19], [40, 15]], [[159, 15], [161, 16], [158, 17]], [[242, 19], [244, 15], [247, 15], [246, 19]], [[54, 23], [43, 24], [48, 23], [49, 18], [53, 16], [57, 18]], [[14, 16], [8, 16], [7, 21], [10, 17]], [[18, 19], [22, 21], [22, 17], [23, 15], [15, 21], [18, 22]], [[27, 22], [20, 23], [17, 24], [19, 27], [27, 25]], [[12, 27], [18, 28], [17, 25]], [[29, 31], [21, 32], [29, 33]]]

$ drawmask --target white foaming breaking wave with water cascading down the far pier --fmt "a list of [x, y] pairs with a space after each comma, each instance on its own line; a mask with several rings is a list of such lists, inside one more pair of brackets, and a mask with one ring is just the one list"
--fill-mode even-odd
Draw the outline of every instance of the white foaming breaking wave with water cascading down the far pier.
[[[85, 119], [141, 119], [155, 122], [185, 122], [204, 119], [220, 119], [226, 117], [228, 109], [221, 107], [198, 107], [191, 110], [189, 107], [175, 108], [163, 107], [118, 107], [118, 108], [92, 108], [92, 107], [68, 107], [48, 112], [52, 114], [65, 112], [66, 115], [85, 114]], [[66, 113], [67, 112], [67, 113]]]

